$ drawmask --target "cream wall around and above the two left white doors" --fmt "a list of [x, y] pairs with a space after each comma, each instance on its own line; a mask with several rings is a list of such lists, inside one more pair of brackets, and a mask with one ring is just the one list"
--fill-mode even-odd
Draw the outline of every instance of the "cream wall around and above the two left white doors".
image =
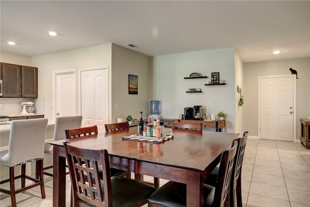
[[53, 118], [53, 109], [50, 107], [51, 103], [53, 103], [53, 71], [76, 68], [78, 81], [79, 69], [101, 66], [110, 67], [111, 45], [109, 43], [32, 57], [32, 64], [38, 67], [38, 97], [45, 98], [45, 117], [48, 119]]

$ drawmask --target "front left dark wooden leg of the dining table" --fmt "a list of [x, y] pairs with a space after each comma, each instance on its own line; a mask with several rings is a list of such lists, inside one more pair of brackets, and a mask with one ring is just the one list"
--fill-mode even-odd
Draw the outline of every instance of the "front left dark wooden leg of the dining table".
[[53, 207], [65, 207], [66, 159], [60, 150], [63, 147], [53, 146]]

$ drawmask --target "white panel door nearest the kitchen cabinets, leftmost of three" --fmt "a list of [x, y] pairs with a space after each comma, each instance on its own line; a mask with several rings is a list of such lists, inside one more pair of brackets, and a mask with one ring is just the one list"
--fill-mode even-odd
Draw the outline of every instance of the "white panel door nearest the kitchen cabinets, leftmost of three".
[[57, 116], [74, 116], [76, 105], [75, 70], [54, 72], [54, 110], [53, 119]]

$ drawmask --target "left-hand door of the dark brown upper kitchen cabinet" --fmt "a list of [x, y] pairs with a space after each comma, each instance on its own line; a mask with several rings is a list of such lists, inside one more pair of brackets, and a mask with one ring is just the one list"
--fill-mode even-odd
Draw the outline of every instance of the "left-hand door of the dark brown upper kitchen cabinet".
[[21, 66], [16, 64], [1, 63], [2, 68], [2, 97], [19, 98], [21, 97], [20, 71]]

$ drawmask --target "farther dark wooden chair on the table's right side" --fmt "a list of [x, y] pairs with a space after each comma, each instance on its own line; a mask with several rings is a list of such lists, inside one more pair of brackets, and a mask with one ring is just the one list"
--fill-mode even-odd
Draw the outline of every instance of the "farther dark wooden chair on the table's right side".
[[[248, 139], [248, 131], [243, 133], [242, 138], [238, 138], [237, 144], [237, 153], [235, 156], [234, 166], [233, 166], [233, 178], [231, 183], [231, 190], [230, 190], [230, 206], [234, 207], [237, 204], [237, 207], [242, 207], [242, 196], [241, 196], [241, 169], [242, 169], [242, 162], [244, 157], [244, 152], [246, 149]], [[219, 168], [216, 167], [210, 175], [204, 181], [205, 184], [215, 186], [216, 185], [216, 178], [218, 175]]]

